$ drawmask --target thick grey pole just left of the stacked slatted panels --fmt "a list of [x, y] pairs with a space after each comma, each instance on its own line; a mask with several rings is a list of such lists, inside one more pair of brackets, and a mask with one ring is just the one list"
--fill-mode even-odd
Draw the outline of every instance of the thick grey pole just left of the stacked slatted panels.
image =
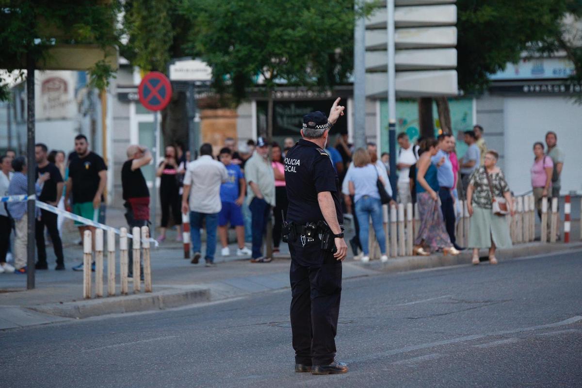
[[[358, 2], [354, 3], [356, 15]], [[365, 19], [358, 17], [354, 27], [354, 148], [365, 148]], [[348, 112], [348, 115], [350, 112]], [[350, 119], [349, 117], [347, 118]], [[377, 139], [379, 143], [379, 139]], [[379, 149], [379, 148], [378, 148]]]

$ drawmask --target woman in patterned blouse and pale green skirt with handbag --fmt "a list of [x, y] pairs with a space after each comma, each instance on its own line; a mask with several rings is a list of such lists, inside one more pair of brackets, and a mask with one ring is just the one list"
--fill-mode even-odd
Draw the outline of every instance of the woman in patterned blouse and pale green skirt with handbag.
[[514, 213], [509, 186], [496, 166], [499, 154], [489, 150], [485, 163], [471, 174], [467, 187], [467, 209], [471, 216], [469, 244], [473, 248], [473, 264], [479, 264], [480, 248], [489, 248], [489, 262], [497, 264], [496, 248], [512, 246], [506, 217]]

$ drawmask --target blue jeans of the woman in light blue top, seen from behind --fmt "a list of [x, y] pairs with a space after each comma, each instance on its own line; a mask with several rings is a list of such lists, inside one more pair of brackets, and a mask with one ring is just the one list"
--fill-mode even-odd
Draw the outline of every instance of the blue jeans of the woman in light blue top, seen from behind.
[[368, 235], [370, 234], [370, 216], [372, 217], [372, 226], [376, 232], [376, 239], [380, 245], [382, 255], [386, 254], [386, 236], [384, 227], [382, 227], [382, 202], [377, 198], [364, 195], [356, 202], [356, 216], [360, 224], [360, 243], [365, 256], [370, 255], [370, 246], [368, 245]]

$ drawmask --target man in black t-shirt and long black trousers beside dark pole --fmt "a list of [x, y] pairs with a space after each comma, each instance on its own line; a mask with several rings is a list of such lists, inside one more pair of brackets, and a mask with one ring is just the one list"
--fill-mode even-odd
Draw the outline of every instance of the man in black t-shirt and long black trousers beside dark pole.
[[[36, 176], [40, 176], [44, 173], [48, 173], [50, 176], [42, 187], [42, 191], [38, 196], [38, 201], [56, 206], [63, 193], [64, 183], [59, 169], [53, 163], [48, 161], [47, 151], [47, 146], [42, 143], [38, 143], [34, 147], [34, 157], [36, 158], [37, 162]], [[35, 266], [36, 269], [48, 269], [47, 250], [44, 244], [45, 226], [47, 227], [48, 235], [51, 236], [52, 246], [55, 250], [55, 270], [65, 269], [65, 262], [63, 259], [63, 245], [56, 223], [57, 218], [58, 216], [55, 213], [41, 209], [40, 218], [36, 220], [36, 243], [38, 252], [38, 262]]]

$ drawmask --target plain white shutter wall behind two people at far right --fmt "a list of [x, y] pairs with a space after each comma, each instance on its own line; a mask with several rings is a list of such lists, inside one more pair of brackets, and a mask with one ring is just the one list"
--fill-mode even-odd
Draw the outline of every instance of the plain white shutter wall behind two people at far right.
[[505, 175], [510, 188], [521, 194], [531, 190], [533, 144], [545, 143], [549, 130], [558, 134], [566, 152], [562, 195], [582, 191], [582, 106], [562, 97], [505, 98]]

